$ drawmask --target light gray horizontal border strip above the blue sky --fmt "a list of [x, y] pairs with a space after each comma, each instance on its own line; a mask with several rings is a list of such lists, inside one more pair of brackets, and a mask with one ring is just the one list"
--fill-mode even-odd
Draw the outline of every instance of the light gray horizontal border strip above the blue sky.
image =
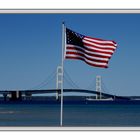
[[0, 14], [96, 14], [96, 13], [140, 13], [140, 9], [0, 9]]

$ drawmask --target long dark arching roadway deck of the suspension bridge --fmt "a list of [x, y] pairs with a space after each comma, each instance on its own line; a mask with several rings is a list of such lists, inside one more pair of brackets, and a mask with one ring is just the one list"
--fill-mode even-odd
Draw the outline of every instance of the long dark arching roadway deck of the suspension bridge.
[[[95, 95], [100, 95], [100, 92], [93, 91], [93, 90], [86, 90], [86, 89], [63, 89], [63, 92], [77, 92], [77, 93], [90, 93], [90, 94], [95, 94]], [[45, 93], [61, 93], [61, 89], [46, 89], [46, 90], [3, 90], [0, 91], [0, 94], [3, 96], [7, 96], [7, 94], [11, 94], [13, 99], [20, 98], [22, 94], [27, 95], [27, 94], [45, 94]], [[19, 94], [18, 97], [16, 97], [16, 94]], [[101, 93], [102, 96], [107, 97], [107, 98], [115, 98], [115, 99], [127, 99], [129, 100], [130, 98], [128, 97], [123, 97], [123, 96], [116, 96], [116, 95], [111, 95], [107, 93]]]

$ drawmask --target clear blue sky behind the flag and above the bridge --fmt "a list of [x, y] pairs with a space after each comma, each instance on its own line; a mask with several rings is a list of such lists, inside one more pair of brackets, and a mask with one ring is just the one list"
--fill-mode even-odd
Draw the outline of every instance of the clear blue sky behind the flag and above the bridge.
[[[108, 69], [65, 60], [65, 70], [79, 87], [93, 83], [95, 89], [95, 77], [101, 75], [108, 92], [140, 95], [140, 14], [0, 14], [1, 90], [36, 87], [56, 71], [62, 21], [81, 34], [118, 44]], [[51, 82], [43, 88], [55, 88], [55, 79]]]

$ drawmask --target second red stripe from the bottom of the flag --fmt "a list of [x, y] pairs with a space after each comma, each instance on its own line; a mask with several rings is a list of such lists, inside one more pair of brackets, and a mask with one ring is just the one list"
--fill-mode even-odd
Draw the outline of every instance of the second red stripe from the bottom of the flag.
[[94, 58], [89, 58], [87, 56], [85, 56], [84, 54], [82, 53], [79, 53], [79, 52], [66, 52], [66, 54], [73, 54], [73, 55], [80, 55], [82, 57], [85, 57], [86, 59], [90, 60], [90, 61], [94, 61], [94, 62], [101, 62], [101, 63], [107, 63], [108, 61], [106, 60], [97, 60], [97, 59], [94, 59]]

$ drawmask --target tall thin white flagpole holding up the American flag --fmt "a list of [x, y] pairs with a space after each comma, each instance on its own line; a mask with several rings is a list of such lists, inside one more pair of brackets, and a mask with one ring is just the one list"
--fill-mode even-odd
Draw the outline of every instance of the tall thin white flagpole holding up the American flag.
[[65, 48], [65, 23], [62, 23], [62, 62], [61, 62], [61, 111], [60, 126], [63, 126], [63, 78], [64, 78], [64, 48]]

